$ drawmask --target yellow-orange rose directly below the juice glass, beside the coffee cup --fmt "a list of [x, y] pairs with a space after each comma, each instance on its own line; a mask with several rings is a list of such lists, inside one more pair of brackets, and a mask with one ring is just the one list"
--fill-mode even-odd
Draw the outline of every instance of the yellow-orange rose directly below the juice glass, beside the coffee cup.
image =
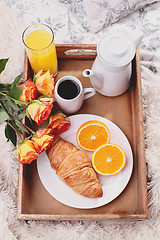
[[34, 81], [39, 93], [47, 97], [52, 97], [54, 92], [54, 78], [49, 70], [47, 71], [43, 69], [39, 71], [36, 74]]

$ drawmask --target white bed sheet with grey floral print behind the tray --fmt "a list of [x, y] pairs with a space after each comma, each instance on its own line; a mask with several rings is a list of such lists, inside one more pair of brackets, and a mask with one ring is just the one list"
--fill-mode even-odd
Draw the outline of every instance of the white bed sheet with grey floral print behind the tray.
[[[160, 52], [160, 1], [140, 8], [127, 17], [121, 16], [121, 20], [106, 28], [104, 27], [97, 33], [92, 33], [87, 26], [88, 22], [83, 8], [83, 1], [91, 2], [91, 0], [5, 0], [7, 5], [23, 21], [23, 29], [33, 23], [45, 23], [53, 29], [55, 43], [58, 44], [97, 44], [105, 34], [113, 28], [119, 28], [119, 26], [122, 28], [128, 27], [131, 31], [140, 30], [144, 33], [143, 41], [140, 44], [142, 71], [144, 65], [145, 69], [146, 67], [149, 68], [156, 75], [160, 72], [160, 66], [157, 64]], [[104, 0], [92, 0], [93, 3], [96, 3], [96, 1], [97, 3], [103, 1], [104, 4]], [[126, 11], [127, 9], [131, 11], [135, 7], [133, 0], [110, 0], [112, 6], [115, 6], [115, 2], [118, 2], [119, 6], [120, 3], [126, 3]], [[132, 8], [129, 7], [129, 2], [132, 3]], [[135, 0], [135, 2], [138, 1]], [[137, 6], [140, 7], [142, 4], [149, 2], [153, 2], [153, 0], [139, 0]], [[101, 15], [99, 13], [101, 12], [98, 12], [98, 16]], [[125, 13], [125, 10], [122, 13]], [[118, 14], [120, 16], [120, 12]], [[94, 26], [96, 26], [96, 23], [95, 21]]]

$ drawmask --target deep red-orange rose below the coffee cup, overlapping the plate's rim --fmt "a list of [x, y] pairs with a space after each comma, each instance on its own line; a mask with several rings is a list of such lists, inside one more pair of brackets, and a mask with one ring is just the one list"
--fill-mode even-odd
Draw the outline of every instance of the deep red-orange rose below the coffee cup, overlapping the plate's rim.
[[66, 120], [61, 113], [56, 113], [49, 118], [48, 128], [52, 128], [54, 134], [65, 132], [70, 126], [70, 121]]

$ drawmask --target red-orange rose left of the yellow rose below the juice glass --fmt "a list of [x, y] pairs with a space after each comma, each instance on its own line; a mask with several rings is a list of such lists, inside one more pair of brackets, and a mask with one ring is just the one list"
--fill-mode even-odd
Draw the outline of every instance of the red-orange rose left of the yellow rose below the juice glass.
[[19, 97], [19, 100], [23, 102], [31, 102], [32, 100], [36, 99], [37, 87], [34, 85], [34, 82], [32, 81], [31, 78], [28, 79], [23, 84], [18, 85], [18, 87], [23, 89], [23, 92]]

